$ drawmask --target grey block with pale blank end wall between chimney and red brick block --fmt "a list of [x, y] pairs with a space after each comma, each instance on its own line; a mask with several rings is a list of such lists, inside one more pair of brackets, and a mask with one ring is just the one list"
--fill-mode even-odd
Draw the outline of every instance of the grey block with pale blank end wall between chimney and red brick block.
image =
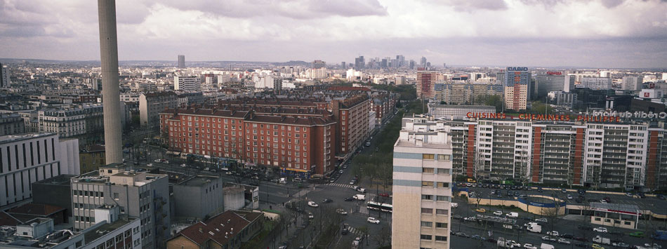
[[178, 107], [178, 95], [173, 92], [142, 93], [139, 96], [139, 121], [141, 126], [157, 126], [159, 113]]

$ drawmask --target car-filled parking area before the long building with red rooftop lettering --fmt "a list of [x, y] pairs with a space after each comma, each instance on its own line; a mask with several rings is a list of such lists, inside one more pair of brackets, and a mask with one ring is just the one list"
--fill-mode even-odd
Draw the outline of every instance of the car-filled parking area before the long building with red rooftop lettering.
[[[491, 194], [492, 190], [494, 190], [494, 192], [499, 191], [501, 196], [498, 197], [498, 194]], [[566, 189], [565, 193], [563, 193], [560, 189], [542, 189], [542, 191], [538, 191], [537, 189], [516, 188], [515, 190], [512, 190], [511, 187], [510, 189], [507, 189], [507, 187], [503, 187], [503, 189], [500, 187], [494, 189], [493, 187], [471, 186], [468, 187], [468, 191], [475, 192], [477, 196], [481, 196], [482, 198], [503, 198], [507, 200], [516, 198], [517, 195], [554, 196], [562, 198], [568, 203], [568, 206], [571, 205], [571, 203], [572, 205], [583, 205], [588, 201], [599, 202], [605, 197], [609, 197], [610, 203], [633, 203], [638, 206], [652, 207], [656, 210], [657, 207], [664, 208], [666, 206], [664, 204], [667, 204], [664, 203], [664, 200], [656, 197], [632, 198], [623, 194], [593, 194], [590, 192], [583, 194], [584, 201], [582, 201], [582, 203], [576, 203], [574, 199], [579, 197], [579, 194], [574, 189]], [[510, 191], [512, 196], [508, 196], [507, 191]], [[567, 198], [568, 194], [572, 196], [572, 199]], [[516, 243], [520, 243], [521, 248], [524, 248], [523, 246], [525, 243], [535, 245], [536, 248], [540, 248], [541, 243], [554, 245], [555, 248], [591, 248], [595, 236], [600, 236], [600, 244], [604, 248], [626, 248], [626, 245], [628, 247], [634, 245], [645, 246], [646, 243], [656, 243], [656, 245], [663, 247], [667, 246], [667, 241], [656, 241], [650, 238], [650, 234], [652, 234], [654, 230], [664, 228], [666, 222], [664, 220], [640, 220], [638, 230], [621, 229], [619, 227], [605, 227], [597, 224], [590, 224], [590, 216], [543, 216], [527, 213], [519, 208], [507, 206], [477, 206], [474, 204], [474, 201], [473, 203], [468, 203], [467, 198], [463, 197], [456, 197], [453, 201], [458, 203], [458, 208], [453, 208], [452, 210], [451, 248], [495, 248], [498, 238], [506, 238], [507, 240], [513, 240]], [[484, 213], [476, 211], [480, 208], [484, 209]], [[494, 212], [496, 212], [495, 215]], [[503, 222], [503, 220], [508, 219], [500, 218], [507, 218], [506, 214], [510, 212], [518, 214], [517, 218], [512, 218], [515, 220], [513, 225], [508, 225]], [[480, 218], [493, 216], [497, 216], [498, 218]], [[541, 231], [539, 233], [528, 231], [525, 224], [529, 222], [539, 224]], [[593, 229], [597, 227], [604, 227], [607, 229], [607, 232], [593, 231]], [[550, 235], [550, 231], [557, 231], [558, 235], [552, 236]], [[642, 232], [643, 234], [638, 232]], [[643, 238], [630, 236], [630, 234], [643, 236]], [[605, 240], [607, 238], [609, 239], [608, 241]], [[609, 245], [605, 245], [605, 243], [609, 243]], [[614, 243], [616, 243], [616, 245], [614, 245]], [[528, 246], [527, 248], [531, 247]]]

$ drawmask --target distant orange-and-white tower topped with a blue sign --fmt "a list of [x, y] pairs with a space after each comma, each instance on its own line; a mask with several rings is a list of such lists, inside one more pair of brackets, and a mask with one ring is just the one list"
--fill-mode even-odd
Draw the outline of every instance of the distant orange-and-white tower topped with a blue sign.
[[501, 74], [505, 86], [505, 109], [515, 111], [524, 110], [528, 106], [530, 98], [530, 72], [527, 67], [508, 67]]

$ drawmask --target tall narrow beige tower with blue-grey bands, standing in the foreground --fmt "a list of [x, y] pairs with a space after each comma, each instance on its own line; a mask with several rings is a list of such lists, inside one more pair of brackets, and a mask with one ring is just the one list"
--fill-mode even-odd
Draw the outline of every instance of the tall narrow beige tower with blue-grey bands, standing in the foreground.
[[[415, 117], [414, 123], [426, 122]], [[401, 130], [393, 154], [392, 247], [449, 248], [451, 138], [444, 129]]]

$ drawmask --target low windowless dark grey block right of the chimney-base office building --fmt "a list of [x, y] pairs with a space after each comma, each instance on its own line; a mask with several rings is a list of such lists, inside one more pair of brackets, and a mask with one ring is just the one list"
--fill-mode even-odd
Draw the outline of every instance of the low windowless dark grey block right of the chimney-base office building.
[[176, 217], [204, 219], [222, 213], [223, 180], [220, 177], [197, 175], [173, 185]]

